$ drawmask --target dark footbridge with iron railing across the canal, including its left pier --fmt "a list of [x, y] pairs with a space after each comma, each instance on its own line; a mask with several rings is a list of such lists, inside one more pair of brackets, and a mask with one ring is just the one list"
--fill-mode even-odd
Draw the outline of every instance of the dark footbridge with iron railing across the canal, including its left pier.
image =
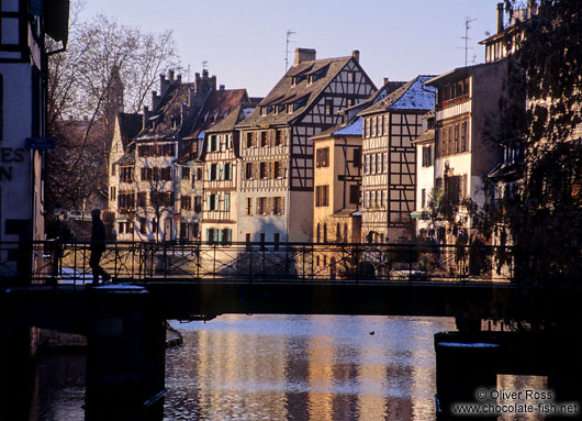
[[[103, 286], [91, 285], [87, 242], [0, 248], [2, 258], [18, 253], [35, 265], [22, 276], [14, 259], [0, 261], [13, 269], [0, 282], [1, 325], [88, 336], [88, 420], [111, 417], [115, 405], [130, 418], [161, 419], [167, 319], [446, 315], [478, 331], [483, 319], [578, 320], [582, 292], [524, 280], [519, 253], [485, 245], [116, 242], [102, 257], [115, 284]], [[580, 266], [580, 251], [566, 258]]]

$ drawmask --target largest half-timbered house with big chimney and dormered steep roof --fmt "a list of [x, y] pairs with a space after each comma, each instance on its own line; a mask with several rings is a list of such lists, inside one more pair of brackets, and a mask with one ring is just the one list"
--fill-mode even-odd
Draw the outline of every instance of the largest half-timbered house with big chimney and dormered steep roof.
[[304, 241], [313, 224], [312, 136], [339, 124], [338, 111], [376, 90], [359, 53], [316, 59], [296, 48], [293, 66], [237, 125], [240, 131], [238, 239]]

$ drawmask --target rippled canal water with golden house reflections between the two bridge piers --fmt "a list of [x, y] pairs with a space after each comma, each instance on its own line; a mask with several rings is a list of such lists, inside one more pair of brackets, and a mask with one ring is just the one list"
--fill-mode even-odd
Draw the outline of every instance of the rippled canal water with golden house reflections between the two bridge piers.
[[[434, 419], [449, 319], [223, 315], [175, 325], [166, 420]], [[373, 333], [373, 334], [371, 334]]]

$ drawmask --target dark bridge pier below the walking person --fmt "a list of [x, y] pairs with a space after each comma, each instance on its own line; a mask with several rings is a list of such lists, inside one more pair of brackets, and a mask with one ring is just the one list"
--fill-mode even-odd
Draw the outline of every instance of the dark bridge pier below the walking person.
[[161, 420], [165, 320], [141, 287], [90, 291], [86, 420]]

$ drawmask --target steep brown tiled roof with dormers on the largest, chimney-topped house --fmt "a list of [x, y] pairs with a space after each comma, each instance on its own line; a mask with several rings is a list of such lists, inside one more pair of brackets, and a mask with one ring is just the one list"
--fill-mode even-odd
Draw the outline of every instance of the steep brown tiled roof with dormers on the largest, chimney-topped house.
[[[294, 65], [277, 82], [269, 95], [265, 97], [255, 112], [238, 124], [238, 126], [287, 124], [298, 119], [310, 109], [310, 106], [318, 98], [320, 93], [323, 92], [327, 85], [329, 85], [351, 58], [351, 56], [324, 58], [306, 60]], [[313, 76], [318, 71], [321, 71], [321, 77], [310, 84], [307, 80], [309, 76]], [[305, 100], [305, 103], [292, 113], [282, 111], [277, 114], [275, 112], [270, 112], [267, 115], [260, 114], [261, 107], [292, 103], [302, 99]]]

